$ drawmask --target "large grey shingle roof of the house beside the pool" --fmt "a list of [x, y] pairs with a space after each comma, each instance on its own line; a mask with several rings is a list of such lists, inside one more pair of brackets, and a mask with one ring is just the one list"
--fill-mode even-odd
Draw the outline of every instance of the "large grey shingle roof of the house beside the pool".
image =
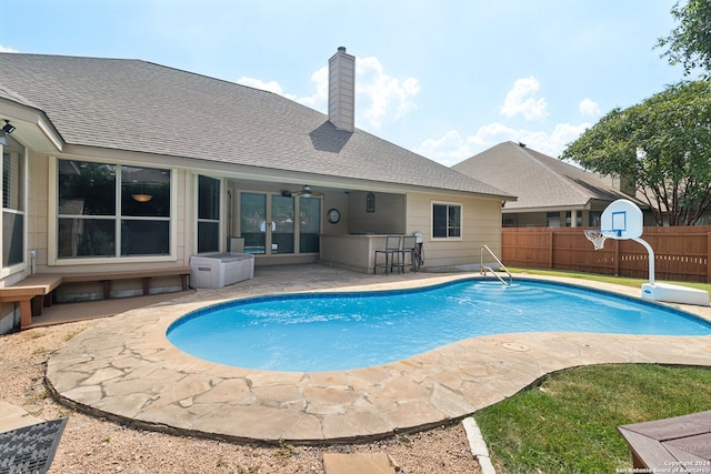
[[69, 144], [513, 199], [276, 93], [147, 61], [0, 53], [1, 99]]

